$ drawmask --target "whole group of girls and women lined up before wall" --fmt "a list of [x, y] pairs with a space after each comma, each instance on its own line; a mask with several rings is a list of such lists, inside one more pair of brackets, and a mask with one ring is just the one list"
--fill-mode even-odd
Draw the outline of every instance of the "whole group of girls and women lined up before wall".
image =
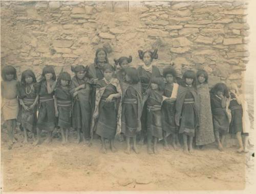
[[[23, 71], [18, 82], [16, 69], [4, 66], [1, 108], [9, 148], [16, 141], [17, 120], [24, 131], [24, 142], [28, 142], [30, 131], [34, 145], [40, 143], [41, 130], [48, 132], [45, 141], [50, 142], [56, 127], [60, 128], [62, 144], [67, 143], [72, 127], [77, 131], [77, 143], [82, 140], [91, 144], [93, 138], [100, 138], [102, 153], [107, 150], [106, 139], [111, 151], [116, 152], [117, 136], [125, 137], [127, 154], [131, 148], [139, 153], [137, 140], [147, 141], [148, 154], [158, 153], [161, 139], [169, 150], [168, 136], [175, 150], [182, 140], [185, 153], [193, 152], [193, 142], [201, 148], [215, 140], [223, 151], [229, 131], [237, 136], [238, 152], [247, 152], [249, 127], [245, 124], [249, 122], [236, 84], [228, 89], [218, 83], [209, 91], [205, 70], [186, 70], [179, 78], [169, 66], [161, 75], [152, 65], [158, 58], [157, 50], [138, 53], [143, 65], [136, 69], [130, 65], [131, 56], [109, 64], [107, 53], [99, 48], [93, 64], [72, 66], [72, 79], [62, 71], [56, 77], [54, 68], [45, 66], [39, 82], [30, 69]], [[244, 144], [241, 134], [245, 135]]]

